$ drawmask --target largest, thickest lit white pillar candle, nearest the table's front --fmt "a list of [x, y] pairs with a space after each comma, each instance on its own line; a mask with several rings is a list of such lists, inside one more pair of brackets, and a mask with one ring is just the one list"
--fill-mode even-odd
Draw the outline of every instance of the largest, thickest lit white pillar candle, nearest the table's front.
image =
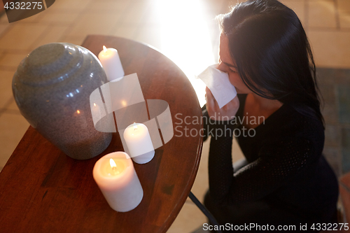
[[134, 164], [127, 153], [118, 151], [105, 155], [94, 164], [92, 175], [115, 211], [131, 211], [144, 197]]

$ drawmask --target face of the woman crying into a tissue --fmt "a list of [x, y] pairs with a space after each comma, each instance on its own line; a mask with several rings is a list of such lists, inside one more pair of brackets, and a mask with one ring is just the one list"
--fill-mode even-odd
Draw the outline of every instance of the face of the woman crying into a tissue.
[[251, 90], [243, 83], [241, 77], [237, 72], [237, 67], [235, 62], [232, 61], [230, 55], [230, 49], [228, 46], [228, 36], [225, 34], [220, 34], [220, 43], [219, 43], [219, 65], [218, 69], [223, 72], [228, 73], [230, 78], [230, 83], [236, 87], [237, 93], [239, 94], [248, 94], [252, 93]]

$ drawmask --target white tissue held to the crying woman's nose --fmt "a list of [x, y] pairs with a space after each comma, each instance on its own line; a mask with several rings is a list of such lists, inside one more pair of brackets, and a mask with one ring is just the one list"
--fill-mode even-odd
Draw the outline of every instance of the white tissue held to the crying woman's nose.
[[207, 85], [218, 102], [219, 108], [222, 108], [236, 97], [237, 91], [230, 83], [228, 73], [216, 69], [217, 66], [218, 64], [209, 66], [202, 73], [200, 73], [197, 78], [200, 78], [205, 85]]

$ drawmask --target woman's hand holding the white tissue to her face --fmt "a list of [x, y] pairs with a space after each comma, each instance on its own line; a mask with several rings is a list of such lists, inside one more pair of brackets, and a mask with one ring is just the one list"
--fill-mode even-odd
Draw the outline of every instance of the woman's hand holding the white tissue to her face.
[[219, 108], [218, 102], [214, 98], [208, 87], [205, 88], [205, 99], [207, 100], [207, 111], [211, 120], [232, 120], [239, 108], [239, 99], [236, 96], [228, 104]]

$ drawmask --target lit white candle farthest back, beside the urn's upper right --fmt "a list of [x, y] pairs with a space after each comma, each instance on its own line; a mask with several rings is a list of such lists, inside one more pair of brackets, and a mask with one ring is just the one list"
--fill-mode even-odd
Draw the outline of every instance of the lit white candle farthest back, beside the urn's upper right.
[[99, 52], [99, 61], [109, 81], [118, 81], [124, 77], [124, 69], [120, 62], [118, 51], [115, 48], [106, 48]]

